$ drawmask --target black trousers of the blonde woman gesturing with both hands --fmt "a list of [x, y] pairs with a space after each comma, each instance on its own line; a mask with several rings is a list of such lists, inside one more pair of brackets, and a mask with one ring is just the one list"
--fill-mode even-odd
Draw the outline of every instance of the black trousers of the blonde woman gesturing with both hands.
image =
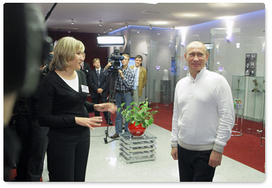
[[49, 130], [48, 171], [52, 182], [84, 182], [90, 129], [78, 134]]

